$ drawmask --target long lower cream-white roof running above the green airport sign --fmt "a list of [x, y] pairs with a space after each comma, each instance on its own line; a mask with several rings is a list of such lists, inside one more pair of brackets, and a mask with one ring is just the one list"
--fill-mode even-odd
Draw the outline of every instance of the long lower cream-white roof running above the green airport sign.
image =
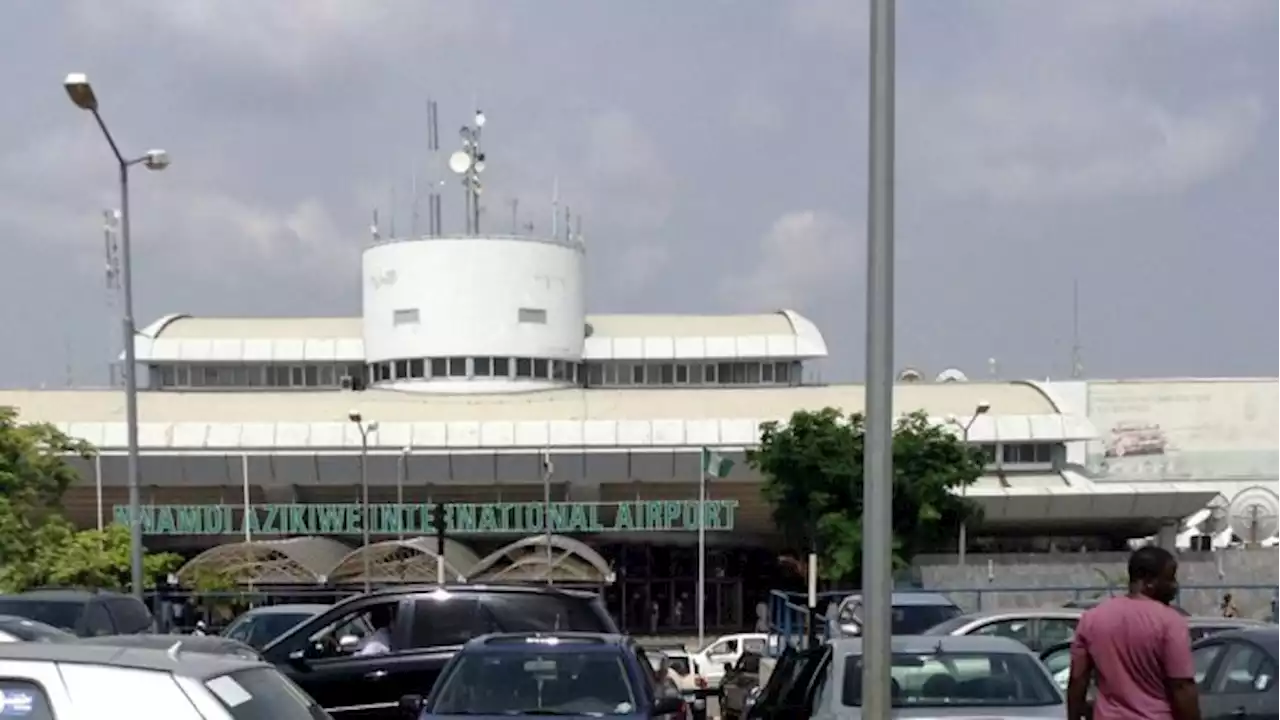
[[[506, 447], [751, 447], [759, 425], [801, 409], [863, 409], [861, 386], [796, 388], [563, 389], [527, 395], [424, 397], [393, 391], [143, 392], [140, 441], [151, 448], [358, 448], [347, 420], [360, 410], [379, 423], [370, 445], [383, 448]], [[1060, 415], [1023, 383], [906, 384], [895, 392], [902, 413], [924, 410], [945, 421], [980, 402], [973, 442], [1093, 439], [1088, 419]], [[119, 391], [0, 392], [0, 406], [23, 420], [58, 424], [100, 448], [123, 447]]]

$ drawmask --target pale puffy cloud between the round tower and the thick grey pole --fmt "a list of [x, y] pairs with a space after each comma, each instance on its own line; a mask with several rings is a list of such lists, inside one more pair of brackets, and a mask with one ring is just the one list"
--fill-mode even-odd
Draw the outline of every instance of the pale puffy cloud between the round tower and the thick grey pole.
[[863, 233], [818, 210], [786, 213], [773, 222], [748, 256], [745, 273], [727, 273], [722, 301], [736, 310], [812, 307], [846, 288], [856, 277]]

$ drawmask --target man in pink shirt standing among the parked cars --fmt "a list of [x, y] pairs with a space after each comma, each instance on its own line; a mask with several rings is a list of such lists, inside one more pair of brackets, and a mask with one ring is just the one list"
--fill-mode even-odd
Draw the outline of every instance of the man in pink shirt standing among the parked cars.
[[1080, 618], [1071, 641], [1069, 720], [1201, 720], [1187, 620], [1169, 607], [1178, 594], [1178, 561], [1160, 547], [1129, 556], [1129, 594]]

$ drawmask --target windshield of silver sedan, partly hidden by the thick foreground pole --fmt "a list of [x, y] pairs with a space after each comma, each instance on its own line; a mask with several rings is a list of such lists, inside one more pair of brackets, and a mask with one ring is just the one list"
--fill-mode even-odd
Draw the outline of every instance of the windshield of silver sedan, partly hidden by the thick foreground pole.
[[[1062, 702], [1030, 655], [1012, 652], [893, 656], [895, 707], [1029, 707]], [[860, 655], [845, 660], [844, 703], [863, 702]]]

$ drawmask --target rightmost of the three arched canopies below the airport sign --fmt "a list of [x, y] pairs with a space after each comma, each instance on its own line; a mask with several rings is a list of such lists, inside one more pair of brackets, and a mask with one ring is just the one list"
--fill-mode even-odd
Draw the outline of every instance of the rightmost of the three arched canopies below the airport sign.
[[564, 536], [521, 538], [481, 560], [471, 574], [477, 582], [613, 583], [613, 570], [599, 552]]

